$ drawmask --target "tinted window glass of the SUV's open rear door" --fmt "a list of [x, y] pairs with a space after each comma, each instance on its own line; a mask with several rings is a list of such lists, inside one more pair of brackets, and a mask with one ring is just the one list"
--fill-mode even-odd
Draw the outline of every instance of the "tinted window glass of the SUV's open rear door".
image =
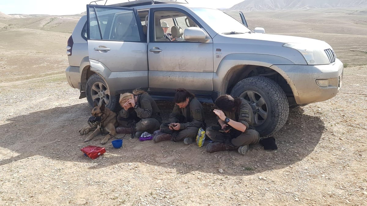
[[141, 41], [133, 11], [98, 7], [95, 7], [95, 10], [98, 18], [94, 10], [90, 11], [90, 39]]

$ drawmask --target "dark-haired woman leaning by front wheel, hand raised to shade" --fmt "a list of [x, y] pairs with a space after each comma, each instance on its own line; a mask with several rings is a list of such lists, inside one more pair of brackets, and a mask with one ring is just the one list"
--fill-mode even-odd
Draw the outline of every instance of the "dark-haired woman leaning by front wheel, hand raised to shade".
[[220, 127], [207, 128], [206, 135], [214, 141], [207, 145], [207, 152], [238, 150], [240, 154], [246, 154], [248, 145], [256, 144], [260, 139], [259, 133], [249, 128], [253, 124], [250, 104], [241, 98], [222, 95], [215, 100], [215, 105], [218, 110], [214, 113]]

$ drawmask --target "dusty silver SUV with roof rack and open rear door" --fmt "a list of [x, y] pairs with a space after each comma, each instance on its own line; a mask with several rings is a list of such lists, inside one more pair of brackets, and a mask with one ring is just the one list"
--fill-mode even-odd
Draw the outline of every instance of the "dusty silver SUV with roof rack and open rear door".
[[[239, 96], [262, 136], [286, 123], [289, 107], [338, 93], [343, 64], [329, 44], [252, 31], [241, 19], [168, 0], [87, 5], [68, 40], [66, 79], [91, 106], [97, 100], [112, 110], [120, 93], [135, 88], [157, 100], [172, 100], [177, 88], [201, 102]], [[173, 41], [162, 22], [171, 25]]]

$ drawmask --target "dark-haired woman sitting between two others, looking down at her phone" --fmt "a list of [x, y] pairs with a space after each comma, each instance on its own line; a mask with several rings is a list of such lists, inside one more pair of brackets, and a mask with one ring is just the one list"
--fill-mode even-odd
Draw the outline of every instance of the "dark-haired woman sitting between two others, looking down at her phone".
[[183, 140], [185, 144], [191, 144], [204, 123], [203, 106], [186, 89], [177, 89], [174, 101], [176, 104], [169, 122], [161, 124], [160, 132], [153, 137], [153, 141]]

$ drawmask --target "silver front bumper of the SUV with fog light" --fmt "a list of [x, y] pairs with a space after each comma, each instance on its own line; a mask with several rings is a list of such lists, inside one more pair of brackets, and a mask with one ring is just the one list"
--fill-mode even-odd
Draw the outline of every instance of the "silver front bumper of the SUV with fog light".
[[[343, 63], [339, 59], [330, 65], [273, 65], [270, 68], [280, 69], [287, 75], [285, 79], [297, 104], [331, 99], [337, 95], [342, 84]], [[328, 86], [320, 87], [316, 80], [328, 80]]]

